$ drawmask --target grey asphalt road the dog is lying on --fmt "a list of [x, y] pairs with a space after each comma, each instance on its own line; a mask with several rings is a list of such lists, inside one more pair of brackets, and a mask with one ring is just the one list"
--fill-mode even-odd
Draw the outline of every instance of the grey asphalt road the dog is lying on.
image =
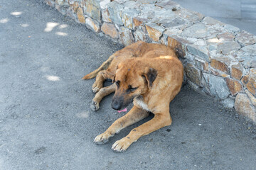
[[124, 113], [112, 96], [90, 111], [82, 76], [121, 46], [38, 1], [0, 0], [0, 169], [256, 169], [256, 128], [185, 86], [173, 124], [127, 152], [92, 143]]

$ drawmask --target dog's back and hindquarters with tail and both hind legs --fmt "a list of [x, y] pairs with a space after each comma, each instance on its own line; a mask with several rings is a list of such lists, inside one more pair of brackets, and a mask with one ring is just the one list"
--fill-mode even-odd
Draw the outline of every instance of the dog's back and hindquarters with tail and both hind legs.
[[124, 62], [124, 60], [134, 57], [154, 58], [165, 55], [176, 56], [174, 50], [171, 50], [171, 48], [166, 47], [165, 45], [139, 41], [115, 52], [107, 61], [103, 62], [98, 69], [87, 74], [85, 77], [82, 77], [82, 79], [92, 79], [97, 76], [95, 83], [92, 84], [92, 91], [97, 93], [95, 98], [92, 99], [90, 106], [92, 111], [97, 111], [100, 108], [100, 101], [102, 101], [102, 98], [115, 91], [115, 84], [104, 88], [102, 87], [103, 82], [106, 79], [113, 80], [117, 65], [120, 62]]

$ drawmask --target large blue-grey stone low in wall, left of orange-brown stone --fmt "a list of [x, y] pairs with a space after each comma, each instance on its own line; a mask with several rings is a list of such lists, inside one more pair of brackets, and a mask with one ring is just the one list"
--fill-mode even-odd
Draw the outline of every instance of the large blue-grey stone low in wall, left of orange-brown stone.
[[203, 77], [209, 85], [210, 94], [220, 99], [225, 99], [230, 95], [226, 81], [222, 77], [203, 73]]

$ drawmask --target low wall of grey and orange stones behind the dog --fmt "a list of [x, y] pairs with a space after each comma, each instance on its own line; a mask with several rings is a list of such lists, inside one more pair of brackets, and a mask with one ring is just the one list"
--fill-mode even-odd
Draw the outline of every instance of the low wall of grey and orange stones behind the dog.
[[193, 89], [256, 122], [256, 36], [170, 0], [45, 1], [125, 46], [143, 40], [174, 47]]

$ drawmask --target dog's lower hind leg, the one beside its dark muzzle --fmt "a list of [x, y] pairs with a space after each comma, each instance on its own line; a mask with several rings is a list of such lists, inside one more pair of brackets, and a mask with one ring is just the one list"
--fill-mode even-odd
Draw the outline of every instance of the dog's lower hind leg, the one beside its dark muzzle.
[[99, 92], [97, 92], [97, 94], [95, 94], [95, 97], [92, 99], [92, 103], [90, 105], [92, 111], [97, 111], [100, 108], [100, 101], [102, 98], [113, 93], [115, 91], [115, 87], [115, 84], [103, 87]]

